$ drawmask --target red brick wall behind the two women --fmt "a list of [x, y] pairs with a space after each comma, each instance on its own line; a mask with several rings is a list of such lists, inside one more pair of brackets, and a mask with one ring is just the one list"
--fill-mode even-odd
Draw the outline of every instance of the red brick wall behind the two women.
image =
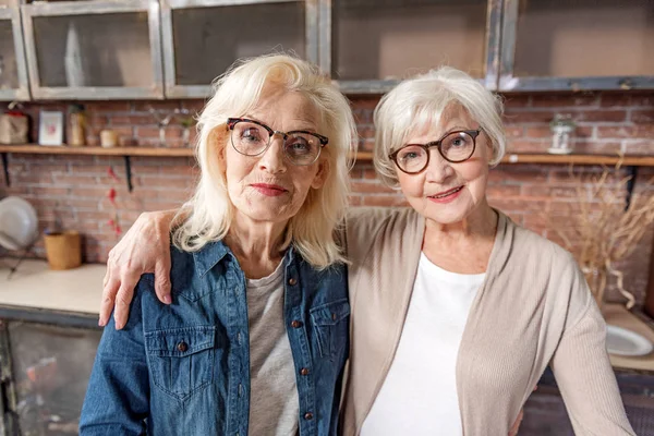
[[[509, 152], [545, 153], [549, 144], [548, 123], [555, 113], [570, 113], [578, 122], [574, 148], [585, 154], [626, 154], [654, 156], [654, 93], [589, 93], [506, 95], [506, 129]], [[371, 150], [374, 145], [372, 112], [376, 97], [352, 98], [360, 128], [360, 149]], [[121, 141], [131, 145], [154, 146], [158, 129], [150, 107], [162, 113], [174, 109], [197, 111], [199, 100], [183, 101], [102, 101], [86, 104], [89, 129], [87, 142], [98, 144], [99, 131], [118, 131]], [[35, 126], [38, 112], [66, 110], [63, 102], [31, 104]], [[173, 119], [167, 128], [167, 143], [183, 146], [182, 125]], [[43, 156], [13, 154], [9, 157], [12, 186], [0, 185], [0, 197], [21, 195], [35, 205], [41, 229], [59, 219], [64, 227], [85, 234], [85, 258], [102, 262], [118, 240], [107, 223], [116, 215], [123, 232], [143, 210], [179, 206], [192, 190], [196, 170], [190, 158], [132, 158], [134, 192], [128, 193], [123, 159], [99, 156]], [[108, 173], [112, 168], [118, 180]], [[588, 187], [590, 175], [601, 172], [598, 167], [577, 168]], [[614, 174], [610, 183], [619, 190], [623, 170]], [[652, 169], [640, 169], [635, 191], [649, 193], [654, 189], [647, 181]], [[375, 177], [371, 162], [360, 162], [352, 171], [353, 205], [401, 205], [402, 197], [385, 186]], [[571, 181], [566, 166], [501, 165], [492, 171], [488, 186], [491, 203], [538, 233], [560, 242], [545, 216], [554, 223], [570, 226], [579, 209], [577, 182]], [[107, 198], [107, 192], [117, 192], [117, 208]], [[652, 231], [638, 244], [634, 253], [621, 266], [626, 287], [633, 290], [642, 303], [647, 280]], [[43, 245], [36, 254], [44, 256]], [[618, 296], [613, 293], [609, 299]]]

